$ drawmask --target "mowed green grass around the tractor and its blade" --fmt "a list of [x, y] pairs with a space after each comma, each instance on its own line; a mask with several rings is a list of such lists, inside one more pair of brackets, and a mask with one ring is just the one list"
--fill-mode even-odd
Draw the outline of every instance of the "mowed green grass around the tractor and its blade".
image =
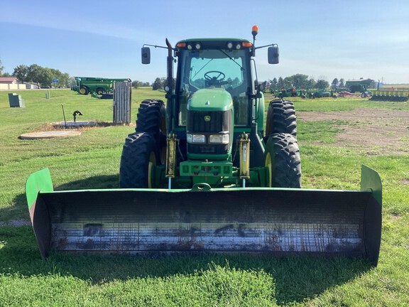
[[[67, 139], [24, 141], [20, 134], [67, 120], [111, 122], [112, 101], [70, 90], [18, 92], [26, 108], [9, 108], [0, 92], [0, 306], [409, 306], [409, 156], [367, 155], [334, 144], [344, 121], [298, 122], [305, 188], [359, 189], [361, 163], [383, 180], [379, 264], [360, 259], [276, 258], [247, 254], [135, 257], [53, 253], [42, 260], [28, 220], [24, 185], [50, 168], [55, 188], [116, 188], [121, 149], [134, 126], [107, 126]], [[163, 92], [133, 90], [138, 103]], [[268, 97], [267, 97], [268, 98]], [[268, 102], [268, 99], [266, 99]], [[302, 111], [356, 107], [408, 110], [408, 103], [366, 99], [295, 100]], [[320, 145], [317, 145], [320, 144]]]

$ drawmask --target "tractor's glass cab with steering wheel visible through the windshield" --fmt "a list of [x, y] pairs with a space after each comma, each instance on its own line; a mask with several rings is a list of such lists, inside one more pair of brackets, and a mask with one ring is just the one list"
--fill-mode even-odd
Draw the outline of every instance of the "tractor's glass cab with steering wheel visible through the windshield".
[[186, 126], [188, 102], [195, 103], [196, 94], [208, 109], [222, 107], [217, 98], [227, 97], [222, 103], [227, 104], [224, 107], [234, 106], [234, 126], [250, 126], [250, 97], [256, 94], [253, 82], [256, 78], [251, 70], [252, 45], [232, 39], [186, 40], [176, 44], [178, 126]]

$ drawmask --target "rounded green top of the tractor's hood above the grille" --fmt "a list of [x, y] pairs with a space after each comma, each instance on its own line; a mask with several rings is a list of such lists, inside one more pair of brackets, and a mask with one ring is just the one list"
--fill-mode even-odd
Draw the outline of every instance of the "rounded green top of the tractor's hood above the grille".
[[233, 99], [227, 90], [210, 87], [195, 92], [187, 103], [189, 111], [227, 111], [233, 109]]

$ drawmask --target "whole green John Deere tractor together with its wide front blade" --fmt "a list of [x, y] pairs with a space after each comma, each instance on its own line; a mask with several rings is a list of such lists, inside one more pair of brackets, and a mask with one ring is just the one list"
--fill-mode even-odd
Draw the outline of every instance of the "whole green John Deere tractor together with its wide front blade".
[[[278, 45], [237, 38], [166, 40], [166, 104], [141, 102], [121, 155], [121, 188], [53, 191], [47, 169], [27, 181], [43, 257], [64, 252], [262, 252], [364, 257], [378, 262], [381, 180], [361, 190], [301, 188], [292, 102], [274, 99], [264, 125], [253, 57]], [[142, 63], [150, 49], [142, 48]], [[157, 47], [157, 46], [154, 46]], [[173, 63], [177, 62], [176, 79]]]

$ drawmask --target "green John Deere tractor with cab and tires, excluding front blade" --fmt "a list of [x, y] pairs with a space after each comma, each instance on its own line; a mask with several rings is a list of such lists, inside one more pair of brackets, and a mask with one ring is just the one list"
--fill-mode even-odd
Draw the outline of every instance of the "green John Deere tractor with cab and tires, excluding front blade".
[[[293, 103], [273, 100], [264, 127], [256, 34], [253, 28], [253, 42], [189, 39], [172, 48], [167, 41], [166, 107], [157, 99], [141, 103], [136, 133], [126, 139], [121, 157], [122, 188], [300, 188]], [[278, 46], [263, 47], [268, 63], [277, 64]], [[142, 60], [150, 62], [148, 47]]]

